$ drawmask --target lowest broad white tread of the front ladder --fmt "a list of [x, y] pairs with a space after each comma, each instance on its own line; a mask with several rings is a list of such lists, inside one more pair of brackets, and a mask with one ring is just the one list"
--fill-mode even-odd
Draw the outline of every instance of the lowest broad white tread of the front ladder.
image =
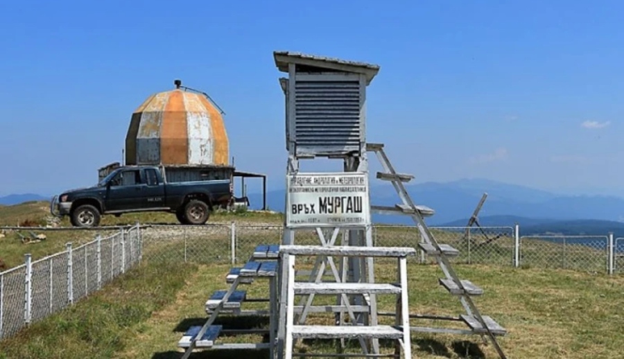
[[388, 338], [401, 339], [403, 331], [394, 326], [333, 326], [333, 325], [295, 325], [293, 338], [318, 339], [356, 339], [356, 338]]

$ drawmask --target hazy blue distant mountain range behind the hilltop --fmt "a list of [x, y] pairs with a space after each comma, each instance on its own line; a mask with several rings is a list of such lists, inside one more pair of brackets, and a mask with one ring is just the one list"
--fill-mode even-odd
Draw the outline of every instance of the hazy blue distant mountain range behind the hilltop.
[[[548, 231], [577, 234], [591, 231], [602, 235], [607, 231], [621, 231], [624, 235], [624, 198], [616, 196], [558, 195], [483, 179], [423, 182], [406, 184], [406, 188], [417, 204], [435, 210], [435, 215], [426, 219], [428, 225], [467, 225], [481, 196], [487, 192], [487, 200], [478, 216], [482, 226], [511, 226], [518, 222], [522, 234]], [[252, 207], [261, 207], [261, 193], [253, 193], [248, 197]], [[284, 199], [284, 190], [267, 193], [268, 207], [274, 211], [284, 211]], [[399, 203], [399, 198], [390, 183], [374, 184], [371, 185], [371, 202], [392, 206]], [[374, 214], [373, 220], [413, 224], [411, 218], [406, 216]]]

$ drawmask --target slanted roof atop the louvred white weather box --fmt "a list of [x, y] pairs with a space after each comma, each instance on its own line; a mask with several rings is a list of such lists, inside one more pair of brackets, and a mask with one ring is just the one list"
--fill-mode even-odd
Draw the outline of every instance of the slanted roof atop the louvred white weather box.
[[273, 51], [273, 58], [275, 58], [275, 66], [282, 72], [288, 72], [288, 64], [297, 64], [313, 69], [363, 73], [366, 76], [367, 85], [370, 84], [379, 72], [379, 65], [377, 64], [340, 60], [338, 58], [327, 58], [291, 51]]

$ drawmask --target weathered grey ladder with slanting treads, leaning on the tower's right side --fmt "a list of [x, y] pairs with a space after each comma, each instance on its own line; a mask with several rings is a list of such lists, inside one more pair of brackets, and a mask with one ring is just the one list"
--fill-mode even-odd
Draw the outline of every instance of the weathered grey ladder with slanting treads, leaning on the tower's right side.
[[[383, 151], [382, 143], [367, 143], [366, 150], [375, 153], [381, 163], [381, 166], [383, 166], [383, 169], [385, 170], [385, 173], [377, 173], [377, 178], [392, 182], [392, 186], [395, 187], [399, 198], [401, 198], [401, 201], [403, 202], [403, 204], [399, 204], [396, 207], [377, 206], [372, 209], [377, 209], [378, 212], [382, 213], [388, 213], [390, 211], [394, 213], [398, 212], [409, 215], [413, 218], [424, 240], [424, 243], [419, 243], [419, 247], [421, 247], [426, 254], [434, 256], [438, 265], [440, 265], [442, 272], [444, 272], [446, 279], [440, 279], [440, 284], [447, 288], [451, 294], [460, 296], [462, 306], [467, 313], [467, 315], [461, 316], [462, 319], [474, 333], [480, 334], [482, 338], [484, 335], [487, 335], [489, 340], [494, 345], [494, 348], [499, 353], [501, 359], [506, 359], [507, 357], [505, 356], [505, 353], [503, 353], [503, 350], [496, 341], [495, 337], [495, 333], [497, 335], [504, 335], [506, 332], [505, 329], [499, 326], [499, 324], [496, 324], [492, 318], [483, 317], [479, 313], [478, 308], [476, 308], [474, 301], [471, 299], [471, 295], [480, 295], [483, 293], [483, 290], [474, 286], [474, 284], [470, 281], [460, 280], [458, 278], [458, 275], [451, 267], [451, 263], [447, 258], [448, 255], [458, 254], [458, 250], [449, 245], [440, 245], [437, 243], [437, 240], [435, 240], [433, 234], [431, 234], [431, 231], [428, 229], [423, 220], [424, 216], [433, 215], [433, 210], [425, 206], [417, 206], [406, 191], [403, 182], [412, 180], [414, 176], [399, 174], [395, 171], [395, 168], [392, 164], [390, 164], [388, 156], [385, 155], [385, 152]], [[412, 330], [418, 331], [418, 328], [413, 328]], [[483, 339], [485, 341], [485, 338]]]

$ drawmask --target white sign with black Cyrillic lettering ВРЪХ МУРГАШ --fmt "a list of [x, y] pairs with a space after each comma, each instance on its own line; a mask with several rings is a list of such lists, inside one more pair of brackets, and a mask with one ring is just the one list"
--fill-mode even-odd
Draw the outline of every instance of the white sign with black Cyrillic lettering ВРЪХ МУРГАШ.
[[287, 227], [370, 225], [366, 173], [297, 173], [286, 177]]

